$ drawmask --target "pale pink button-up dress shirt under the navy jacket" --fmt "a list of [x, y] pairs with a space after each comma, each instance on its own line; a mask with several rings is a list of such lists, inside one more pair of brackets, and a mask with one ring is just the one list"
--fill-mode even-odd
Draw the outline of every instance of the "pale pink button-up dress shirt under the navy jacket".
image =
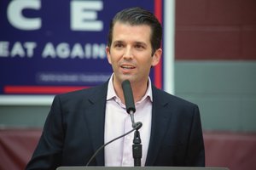
[[[152, 88], [148, 77], [148, 89], [143, 98], [135, 104], [135, 122], [143, 122], [143, 127], [139, 129], [143, 145], [142, 166], [148, 153], [148, 144], [151, 133], [152, 118]], [[131, 130], [131, 117], [125, 110], [125, 104], [121, 102], [115, 94], [113, 88], [113, 75], [108, 82], [108, 94], [105, 117], [105, 144]], [[106, 167], [133, 167], [132, 144], [134, 133], [126, 135], [105, 147], [105, 166]]]

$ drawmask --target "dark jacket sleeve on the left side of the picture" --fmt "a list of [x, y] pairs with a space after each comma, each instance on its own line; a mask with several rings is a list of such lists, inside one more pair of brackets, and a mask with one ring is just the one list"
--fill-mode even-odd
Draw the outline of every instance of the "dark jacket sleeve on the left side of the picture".
[[26, 169], [55, 169], [61, 165], [61, 150], [64, 139], [62, 127], [61, 103], [55, 97], [44, 124], [44, 131], [38, 146]]

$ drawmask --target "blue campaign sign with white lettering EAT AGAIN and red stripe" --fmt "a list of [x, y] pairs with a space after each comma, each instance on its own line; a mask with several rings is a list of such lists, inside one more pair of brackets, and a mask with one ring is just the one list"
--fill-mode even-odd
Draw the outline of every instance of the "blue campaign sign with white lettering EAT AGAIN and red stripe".
[[[109, 22], [134, 6], [161, 17], [157, 0], [1, 1], [0, 94], [59, 94], [106, 82]], [[150, 73], [159, 88], [160, 73]]]

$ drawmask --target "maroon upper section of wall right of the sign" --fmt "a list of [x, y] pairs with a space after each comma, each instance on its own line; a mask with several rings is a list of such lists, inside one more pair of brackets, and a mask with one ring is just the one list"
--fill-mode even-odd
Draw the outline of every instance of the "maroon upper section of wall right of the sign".
[[256, 59], [255, 0], [177, 0], [176, 59]]

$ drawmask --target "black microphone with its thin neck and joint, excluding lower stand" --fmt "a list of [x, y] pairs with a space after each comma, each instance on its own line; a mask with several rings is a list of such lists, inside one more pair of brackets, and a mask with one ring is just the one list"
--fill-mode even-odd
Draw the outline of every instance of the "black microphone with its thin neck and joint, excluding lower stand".
[[125, 80], [124, 82], [122, 82], [122, 88], [123, 88], [123, 93], [125, 96], [126, 112], [131, 116], [132, 127], [133, 128], [137, 127], [137, 130], [138, 130], [140, 127], [143, 126], [143, 123], [142, 122], [134, 122], [134, 113], [135, 113], [136, 109], [135, 109], [135, 105], [134, 105], [134, 99], [133, 99], [130, 81]]

